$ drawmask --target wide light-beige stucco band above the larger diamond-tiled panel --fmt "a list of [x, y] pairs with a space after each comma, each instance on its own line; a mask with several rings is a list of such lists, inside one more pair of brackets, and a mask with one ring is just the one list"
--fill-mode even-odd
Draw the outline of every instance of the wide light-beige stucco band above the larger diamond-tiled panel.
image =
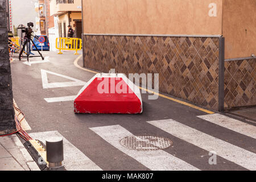
[[221, 34], [222, 0], [83, 0], [83, 11], [84, 33]]

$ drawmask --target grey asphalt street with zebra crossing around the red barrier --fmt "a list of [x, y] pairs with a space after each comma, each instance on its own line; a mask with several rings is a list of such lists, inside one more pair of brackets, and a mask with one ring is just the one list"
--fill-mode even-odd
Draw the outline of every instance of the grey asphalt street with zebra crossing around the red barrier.
[[[174, 167], [171, 169], [179, 166], [181, 170], [256, 169], [256, 141], [253, 134], [256, 130], [250, 124], [244, 123], [241, 130], [236, 125], [221, 126], [222, 124], [197, 117], [209, 115], [204, 111], [162, 97], [148, 100], [148, 94], [142, 94], [142, 114], [75, 114], [73, 101], [47, 102], [44, 98], [74, 96], [82, 86], [44, 89], [42, 69], [84, 82], [89, 81], [94, 73], [75, 67], [73, 62], [78, 56], [72, 52], [64, 52], [63, 55], [43, 52], [43, 55], [49, 56], [49, 62], [30, 66], [23, 64], [26, 59], [15, 59], [11, 63], [14, 99], [26, 114], [26, 120], [32, 129], [30, 133], [57, 131], [103, 170], [170, 169], [168, 166], [172, 165]], [[31, 63], [36, 60], [40, 58], [31, 59]], [[79, 64], [81, 65], [81, 59]], [[49, 83], [71, 81], [49, 73], [47, 77]], [[169, 121], [168, 119], [174, 123], [165, 122], [163, 127], [156, 126], [160, 120]], [[156, 121], [156, 124], [152, 125], [148, 121]], [[113, 125], [119, 126], [109, 127]], [[247, 130], [242, 130], [245, 128]], [[125, 134], [126, 131], [135, 136], [168, 138], [172, 141], [172, 146], [156, 150], [155, 153], [126, 150], [120, 143], [120, 146], [115, 144], [115, 140], [122, 139], [118, 137], [124, 136], [121, 133]], [[217, 164], [209, 164], [209, 151], [216, 151]], [[165, 157], [168, 164], [162, 160]], [[152, 166], [148, 160], [156, 163]], [[73, 163], [75, 165], [75, 158]], [[86, 167], [86, 164], [83, 165]]]

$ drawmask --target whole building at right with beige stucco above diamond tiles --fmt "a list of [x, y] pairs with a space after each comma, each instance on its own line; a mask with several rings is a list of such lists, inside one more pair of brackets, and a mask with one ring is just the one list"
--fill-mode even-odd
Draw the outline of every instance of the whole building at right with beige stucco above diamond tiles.
[[159, 73], [160, 92], [208, 109], [256, 105], [255, 9], [255, 0], [83, 0], [84, 65]]

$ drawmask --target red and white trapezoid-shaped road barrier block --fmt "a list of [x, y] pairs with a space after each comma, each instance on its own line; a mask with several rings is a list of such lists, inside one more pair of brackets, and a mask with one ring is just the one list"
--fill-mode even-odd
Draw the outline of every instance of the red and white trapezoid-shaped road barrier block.
[[74, 107], [75, 113], [138, 114], [141, 92], [122, 73], [98, 73], [77, 94]]

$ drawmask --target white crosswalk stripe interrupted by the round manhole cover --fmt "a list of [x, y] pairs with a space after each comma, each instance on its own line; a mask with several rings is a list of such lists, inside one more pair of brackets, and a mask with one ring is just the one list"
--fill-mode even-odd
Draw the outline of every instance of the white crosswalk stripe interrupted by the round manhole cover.
[[[101, 138], [106, 140], [106, 142], [112, 144], [115, 148], [122, 151], [123, 153], [131, 156], [139, 163], [143, 164], [147, 168], [155, 171], [172, 171], [172, 170], [199, 170], [193, 167], [191, 164], [184, 162], [183, 160], [176, 158], [175, 156], [168, 154], [163, 150], [157, 151], [136, 151], [130, 150], [122, 146], [119, 141], [122, 138], [128, 136], [134, 136], [129, 131], [124, 129], [122, 126], [103, 126], [103, 127], [93, 127], [90, 130], [94, 131], [96, 134], [100, 135]], [[135, 136], [134, 136], [135, 137]]]

